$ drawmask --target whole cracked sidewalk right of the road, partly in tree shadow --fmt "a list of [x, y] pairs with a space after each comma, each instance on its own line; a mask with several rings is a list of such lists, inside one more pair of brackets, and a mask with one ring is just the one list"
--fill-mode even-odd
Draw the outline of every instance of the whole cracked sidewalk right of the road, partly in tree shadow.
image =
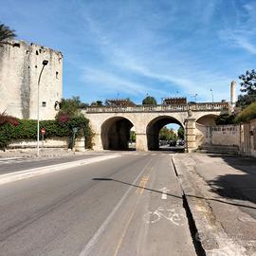
[[207, 255], [256, 255], [256, 159], [174, 155], [174, 166]]

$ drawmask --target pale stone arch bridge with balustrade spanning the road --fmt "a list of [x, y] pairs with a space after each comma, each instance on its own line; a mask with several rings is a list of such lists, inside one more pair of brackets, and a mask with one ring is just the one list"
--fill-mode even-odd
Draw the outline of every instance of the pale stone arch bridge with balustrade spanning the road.
[[184, 127], [187, 152], [196, 149], [196, 122], [215, 124], [221, 112], [229, 110], [228, 102], [195, 103], [181, 105], [138, 105], [88, 107], [84, 116], [90, 120], [95, 133], [94, 150], [128, 149], [129, 131], [137, 135], [137, 151], [158, 149], [158, 133], [168, 123]]

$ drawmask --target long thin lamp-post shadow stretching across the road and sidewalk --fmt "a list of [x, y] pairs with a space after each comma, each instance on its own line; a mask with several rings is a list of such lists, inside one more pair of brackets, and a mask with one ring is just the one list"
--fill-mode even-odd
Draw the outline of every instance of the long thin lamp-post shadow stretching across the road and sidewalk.
[[[138, 186], [136, 184], [131, 184], [131, 183], [121, 181], [121, 180], [118, 180], [118, 179], [113, 179], [113, 178], [100, 178], [99, 177], [99, 178], [93, 178], [92, 180], [95, 180], [95, 181], [114, 181], [114, 182], [119, 182], [119, 183], [124, 184], [124, 185], [133, 186], [135, 188], [144, 189], [145, 191], [149, 191], [149, 192], [157, 192], [157, 193], [160, 193], [160, 194], [163, 193], [161, 191], [157, 191], [157, 190], [146, 188], [146, 187], [141, 187], [141, 186]], [[182, 196], [179, 196], [179, 195], [176, 195], [176, 194], [173, 194], [173, 193], [168, 193], [168, 192], [166, 194], [168, 196], [172, 196], [172, 197], [183, 200]], [[231, 202], [227, 202], [227, 201], [224, 201], [224, 200], [221, 200], [221, 199], [208, 198], [208, 197], [197, 196], [197, 195], [192, 195], [192, 194], [186, 194], [186, 196], [187, 197], [192, 197], [192, 198], [197, 198], [197, 199], [202, 199], [202, 200], [206, 200], [206, 201], [209, 200], [209, 201], [214, 201], [214, 202], [218, 202], [218, 203], [222, 203], [222, 204], [226, 204], [226, 205], [232, 205], [232, 206], [238, 206], [238, 207], [243, 207], [243, 208], [247, 208], [247, 209], [256, 210], [256, 207], [246, 206], [246, 205], [237, 204], [237, 203], [231, 203]]]

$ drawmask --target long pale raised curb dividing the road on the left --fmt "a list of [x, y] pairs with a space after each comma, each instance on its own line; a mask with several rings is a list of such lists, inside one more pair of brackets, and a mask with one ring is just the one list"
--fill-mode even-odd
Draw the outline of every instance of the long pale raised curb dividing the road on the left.
[[119, 157], [121, 155], [103, 155], [99, 157], [93, 157], [85, 160], [72, 161], [67, 163], [55, 164], [50, 166], [38, 167], [33, 169], [28, 169], [25, 171], [19, 171], [10, 174], [2, 174], [0, 175], [0, 185], [7, 184], [13, 181], [18, 181], [42, 174], [56, 173], [69, 168], [79, 167], [91, 163], [97, 163], [108, 159], [113, 159]]

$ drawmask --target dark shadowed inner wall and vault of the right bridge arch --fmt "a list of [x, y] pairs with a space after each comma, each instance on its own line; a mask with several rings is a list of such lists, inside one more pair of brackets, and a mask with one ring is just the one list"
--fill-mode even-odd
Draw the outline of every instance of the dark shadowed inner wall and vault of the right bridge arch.
[[179, 120], [171, 116], [157, 117], [149, 122], [146, 128], [148, 150], [159, 150], [159, 132], [169, 123], [175, 123], [184, 128]]

